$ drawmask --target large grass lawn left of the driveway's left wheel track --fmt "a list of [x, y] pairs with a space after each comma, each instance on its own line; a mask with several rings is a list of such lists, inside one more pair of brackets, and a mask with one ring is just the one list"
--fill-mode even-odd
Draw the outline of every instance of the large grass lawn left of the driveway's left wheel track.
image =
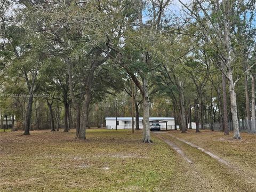
[[177, 158], [142, 131], [1, 132], [1, 191], [170, 191]]

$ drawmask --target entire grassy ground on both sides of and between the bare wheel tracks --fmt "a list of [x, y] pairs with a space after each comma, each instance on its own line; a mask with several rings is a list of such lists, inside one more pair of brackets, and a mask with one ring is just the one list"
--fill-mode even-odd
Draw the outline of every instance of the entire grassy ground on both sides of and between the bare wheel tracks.
[[[243, 140], [222, 132], [151, 133], [153, 144], [141, 143], [142, 131], [87, 130], [85, 141], [69, 133], [1, 132], [0, 191], [256, 191], [256, 137]], [[177, 145], [188, 163], [156, 134]], [[226, 159], [220, 164], [172, 136], [195, 143]]]

